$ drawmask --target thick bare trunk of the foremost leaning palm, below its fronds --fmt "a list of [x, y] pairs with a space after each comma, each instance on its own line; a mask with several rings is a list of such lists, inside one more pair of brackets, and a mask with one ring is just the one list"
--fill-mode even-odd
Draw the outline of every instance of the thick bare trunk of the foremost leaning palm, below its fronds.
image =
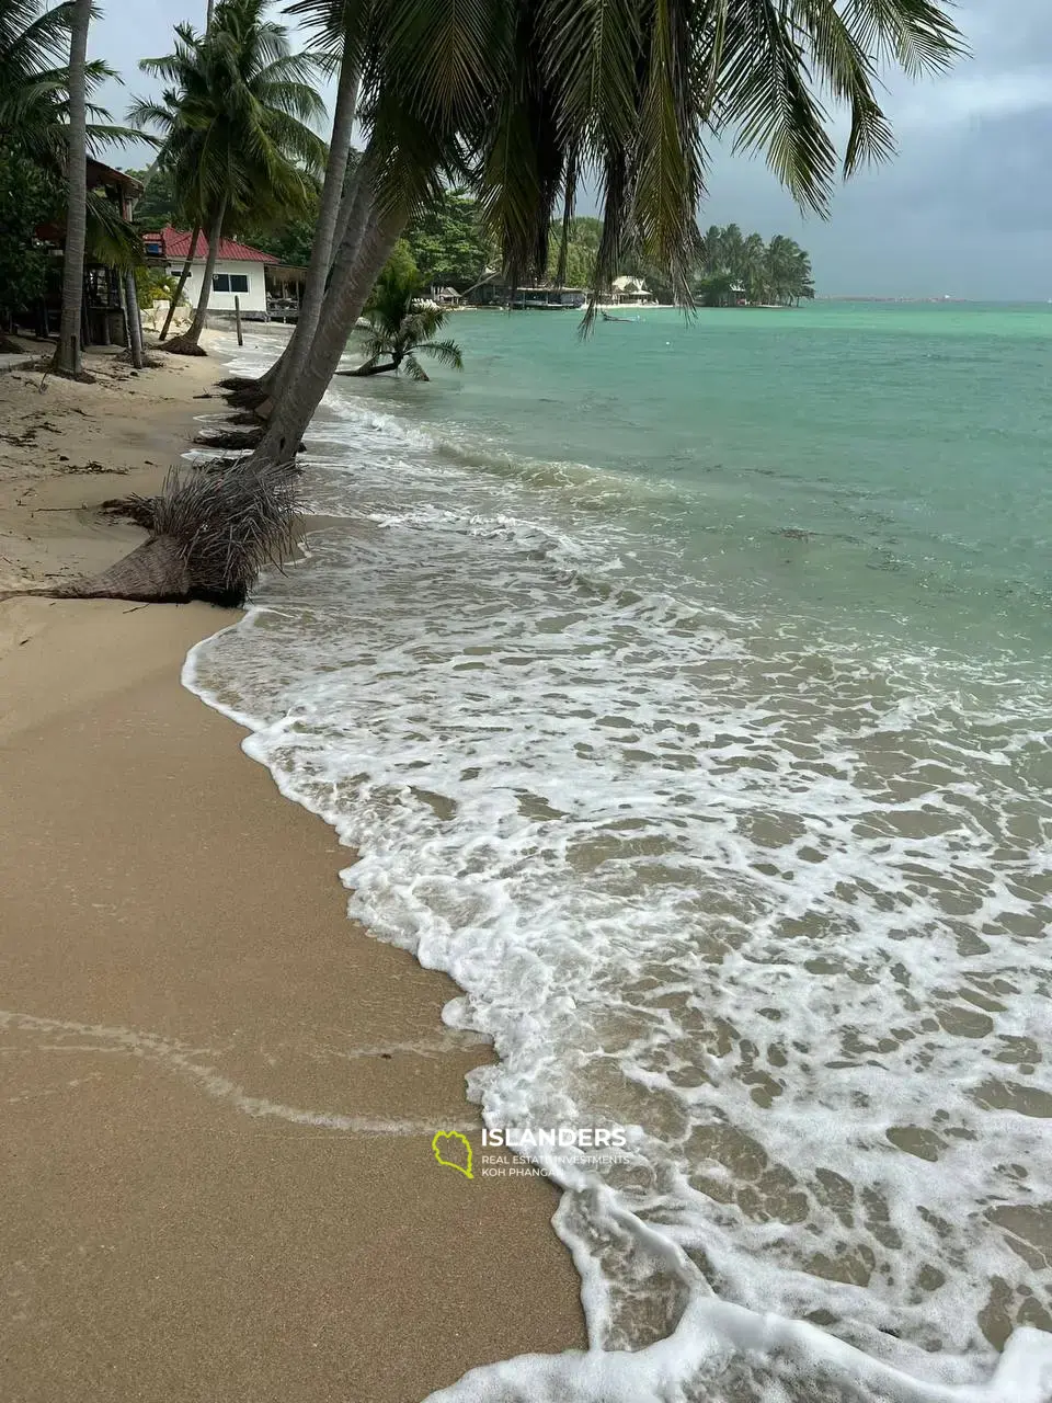
[[[372, 203], [372, 196], [367, 198]], [[332, 382], [348, 337], [407, 222], [405, 209], [373, 210], [358, 255], [348, 257], [346, 244], [341, 247], [310, 352], [297, 377], [289, 380], [259, 446], [248, 460], [250, 466], [262, 469], [295, 459], [300, 439]]]

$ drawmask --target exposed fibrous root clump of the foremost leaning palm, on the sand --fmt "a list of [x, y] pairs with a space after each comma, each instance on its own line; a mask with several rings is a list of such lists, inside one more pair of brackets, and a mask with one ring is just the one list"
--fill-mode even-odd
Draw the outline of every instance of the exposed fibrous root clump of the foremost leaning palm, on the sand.
[[295, 553], [297, 477], [295, 464], [250, 469], [234, 463], [222, 473], [173, 469], [157, 497], [111, 505], [150, 532], [130, 554], [101, 575], [53, 589], [8, 591], [0, 598], [203, 599], [238, 607], [265, 565], [281, 567]]

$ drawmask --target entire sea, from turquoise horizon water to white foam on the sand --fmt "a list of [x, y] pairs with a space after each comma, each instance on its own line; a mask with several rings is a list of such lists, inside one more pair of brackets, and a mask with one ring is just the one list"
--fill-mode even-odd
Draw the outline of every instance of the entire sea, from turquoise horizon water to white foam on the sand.
[[337, 382], [310, 558], [188, 671], [487, 1122], [626, 1129], [540, 1156], [593, 1355], [449, 1397], [1046, 1403], [1052, 307], [452, 334]]

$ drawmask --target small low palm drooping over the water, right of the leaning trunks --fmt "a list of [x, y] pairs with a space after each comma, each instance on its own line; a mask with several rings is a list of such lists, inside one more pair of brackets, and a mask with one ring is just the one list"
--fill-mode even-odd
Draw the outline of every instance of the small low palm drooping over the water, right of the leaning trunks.
[[417, 359], [419, 354], [463, 370], [464, 362], [456, 341], [435, 341], [435, 333], [442, 330], [446, 313], [440, 307], [421, 304], [421, 286], [417, 267], [403, 244], [376, 279], [369, 299], [366, 316], [372, 330], [365, 340], [366, 359], [356, 370], [344, 373], [383, 375], [394, 370], [398, 375], [404, 368], [411, 379], [426, 380], [428, 375]]

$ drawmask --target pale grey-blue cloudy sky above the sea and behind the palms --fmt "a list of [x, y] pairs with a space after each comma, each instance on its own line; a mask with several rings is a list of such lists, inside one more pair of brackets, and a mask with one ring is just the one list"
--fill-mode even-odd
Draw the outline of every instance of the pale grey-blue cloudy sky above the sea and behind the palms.
[[[123, 74], [100, 98], [123, 118], [129, 94], [150, 91], [139, 58], [167, 53], [173, 22], [201, 24], [205, 0], [102, 8], [90, 52]], [[801, 219], [762, 163], [718, 154], [703, 227], [793, 234], [819, 293], [1052, 297], [1052, 0], [961, 0], [957, 17], [973, 56], [938, 80], [892, 81], [899, 154], [844, 185], [828, 222]], [[112, 160], [144, 164], [133, 152]]]

